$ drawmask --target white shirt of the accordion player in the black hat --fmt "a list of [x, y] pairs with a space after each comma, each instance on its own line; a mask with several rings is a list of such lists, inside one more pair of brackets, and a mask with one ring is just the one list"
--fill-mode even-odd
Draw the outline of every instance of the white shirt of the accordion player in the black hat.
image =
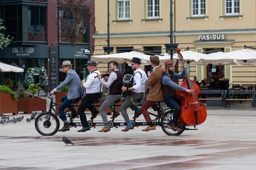
[[[141, 73], [142, 76], [140, 76], [140, 73], [136, 73], [138, 71]], [[145, 92], [145, 84], [147, 82], [148, 82], [148, 77], [146, 75], [146, 72], [144, 72], [141, 68], [135, 70], [133, 83], [132, 83], [132, 87], [134, 88], [134, 90], [132, 90], [132, 92], [136, 92], [136, 93]]]

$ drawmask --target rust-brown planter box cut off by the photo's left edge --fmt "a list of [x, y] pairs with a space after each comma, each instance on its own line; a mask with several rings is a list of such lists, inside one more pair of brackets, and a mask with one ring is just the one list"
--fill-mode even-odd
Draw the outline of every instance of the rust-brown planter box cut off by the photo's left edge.
[[17, 100], [10, 93], [0, 92], [0, 113], [17, 115]]

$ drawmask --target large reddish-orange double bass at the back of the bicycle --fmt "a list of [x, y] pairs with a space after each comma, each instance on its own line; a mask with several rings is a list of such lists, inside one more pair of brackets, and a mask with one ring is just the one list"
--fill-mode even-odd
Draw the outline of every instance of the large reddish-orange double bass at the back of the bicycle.
[[[178, 54], [180, 60], [182, 61], [182, 64], [184, 65], [185, 62], [182, 54], [180, 53], [180, 48], [176, 48], [176, 53]], [[194, 92], [188, 94], [187, 92], [181, 92], [179, 90], [176, 90], [176, 94], [181, 100], [181, 111], [179, 120], [180, 123], [182, 123], [183, 125], [200, 125], [206, 120], [206, 107], [198, 99], [198, 94], [200, 92], [199, 86], [195, 82], [190, 80], [187, 69], [184, 67], [183, 69], [186, 76], [183, 78], [180, 86], [186, 89], [194, 90]]]

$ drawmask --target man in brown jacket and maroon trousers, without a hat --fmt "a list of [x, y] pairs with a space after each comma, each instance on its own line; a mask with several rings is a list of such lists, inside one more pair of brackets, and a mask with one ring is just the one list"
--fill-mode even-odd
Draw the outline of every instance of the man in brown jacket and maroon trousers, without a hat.
[[158, 107], [154, 106], [154, 104], [158, 101], [162, 101], [164, 97], [162, 89], [162, 75], [164, 74], [165, 69], [159, 66], [160, 61], [158, 56], [150, 56], [149, 59], [153, 68], [152, 72], [148, 72], [148, 86], [151, 88], [145, 102], [140, 107], [140, 111], [149, 126], [142, 131], [151, 131], [156, 129], [148, 113], [148, 108], [152, 107], [156, 111]]

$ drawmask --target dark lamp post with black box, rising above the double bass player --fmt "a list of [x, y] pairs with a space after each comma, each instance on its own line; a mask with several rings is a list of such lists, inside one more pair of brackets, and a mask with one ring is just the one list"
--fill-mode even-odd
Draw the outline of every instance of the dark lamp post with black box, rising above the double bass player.
[[175, 49], [178, 47], [178, 44], [173, 44], [173, 36], [172, 36], [172, 18], [173, 18], [173, 13], [172, 13], [172, 0], [170, 0], [170, 35], [168, 35], [171, 39], [170, 44], [164, 44], [166, 47], [166, 53], [169, 53], [171, 56], [171, 60], [173, 61], [173, 52]]

